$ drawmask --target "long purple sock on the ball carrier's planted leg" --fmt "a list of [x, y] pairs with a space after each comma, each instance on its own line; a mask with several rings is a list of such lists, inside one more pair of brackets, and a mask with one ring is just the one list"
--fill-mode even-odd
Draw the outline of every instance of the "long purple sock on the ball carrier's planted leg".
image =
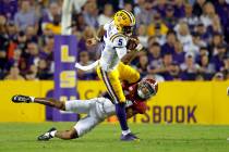
[[126, 114], [125, 114], [125, 103], [116, 104], [116, 115], [119, 119], [119, 124], [122, 130], [129, 130], [128, 122], [126, 122]]

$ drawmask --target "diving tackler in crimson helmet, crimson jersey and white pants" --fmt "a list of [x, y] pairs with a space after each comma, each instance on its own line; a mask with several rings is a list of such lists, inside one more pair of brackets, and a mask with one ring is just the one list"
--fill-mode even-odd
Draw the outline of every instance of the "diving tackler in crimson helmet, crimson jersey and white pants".
[[[125, 98], [126, 115], [131, 117], [137, 113], [144, 114], [147, 110], [146, 100], [155, 96], [158, 90], [157, 81], [154, 79], [143, 79], [132, 85], [123, 86]], [[69, 130], [59, 131], [55, 127], [38, 137], [38, 140], [49, 140], [53, 137], [60, 139], [74, 139], [82, 137], [84, 134], [92, 130], [99, 123], [104, 122], [106, 117], [114, 115], [114, 104], [108, 98], [94, 98], [91, 100], [71, 100], [58, 101], [56, 99], [34, 98], [27, 96], [14, 96], [12, 98], [14, 103], [39, 103], [62, 111], [71, 111], [80, 114], [87, 114], [84, 118], [80, 119], [75, 126]], [[128, 136], [121, 137], [122, 141], [132, 141]]]

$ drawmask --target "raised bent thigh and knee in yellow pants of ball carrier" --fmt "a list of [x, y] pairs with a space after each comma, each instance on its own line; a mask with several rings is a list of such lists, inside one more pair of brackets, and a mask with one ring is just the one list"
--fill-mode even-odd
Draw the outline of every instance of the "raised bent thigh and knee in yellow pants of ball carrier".
[[130, 65], [125, 65], [122, 62], [118, 65], [119, 78], [121, 80], [125, 80], [129, 84], [133, 84], [140, 80], [140, 73], [131, 67]]

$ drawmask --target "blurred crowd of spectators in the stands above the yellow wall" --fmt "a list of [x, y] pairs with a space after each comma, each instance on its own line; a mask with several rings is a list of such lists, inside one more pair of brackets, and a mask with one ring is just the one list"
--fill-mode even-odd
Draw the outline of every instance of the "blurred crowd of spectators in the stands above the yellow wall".
[[[136, 17], [144, 51], [132, 61], [158, 80], [229, 79], [228, 0], [74, 0], [77, 61], [96, 61], [103, 43], [87, 46], [100, 25], [125, 9]], [[0, 79], [53, 79], [53, 36], [61, 34], [62, 0], [0, 1]], [[95, 71], [79, 79], [98, 79]]]

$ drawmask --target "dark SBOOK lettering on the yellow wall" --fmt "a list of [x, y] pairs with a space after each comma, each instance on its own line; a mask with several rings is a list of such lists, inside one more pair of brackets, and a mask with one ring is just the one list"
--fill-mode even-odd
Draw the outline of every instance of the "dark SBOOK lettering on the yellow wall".
[[133, 123], [196, 124], [197, 105], [153, 105], [143, 115], [134, 116]]

